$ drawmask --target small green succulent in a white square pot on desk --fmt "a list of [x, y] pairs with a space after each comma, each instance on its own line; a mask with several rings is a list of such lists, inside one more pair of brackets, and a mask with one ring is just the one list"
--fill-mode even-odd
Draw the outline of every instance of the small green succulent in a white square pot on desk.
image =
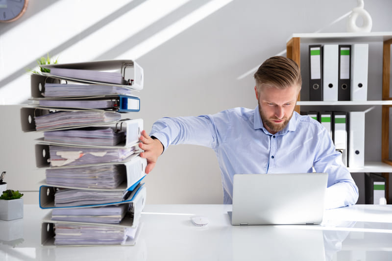
[[23, 217], [23, 194], [19, 190], [4, 190], [0, 196], [0, 219], [14, 220]]

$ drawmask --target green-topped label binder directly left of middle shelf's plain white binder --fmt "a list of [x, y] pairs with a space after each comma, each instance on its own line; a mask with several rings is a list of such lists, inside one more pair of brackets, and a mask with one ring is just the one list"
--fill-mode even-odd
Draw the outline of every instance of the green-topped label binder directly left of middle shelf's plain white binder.
[[347, 166], [347, 113], [333, 112], [332, 113], [332, 140], [335, 144], [335, 149], [342, 153], [342, 161]]

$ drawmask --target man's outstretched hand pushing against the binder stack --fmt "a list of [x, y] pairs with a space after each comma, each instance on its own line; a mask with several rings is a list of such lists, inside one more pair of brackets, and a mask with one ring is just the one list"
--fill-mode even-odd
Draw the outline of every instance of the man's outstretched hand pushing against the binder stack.
[[155, 166], [158, 157], [163, 152], [163, 145], [158, 139], [149, 137], [145, 130], [140, 136], [139, 147], [144, 150], [140, 153], [140, 157], [147, 159], [146, 174], [148, 174]]

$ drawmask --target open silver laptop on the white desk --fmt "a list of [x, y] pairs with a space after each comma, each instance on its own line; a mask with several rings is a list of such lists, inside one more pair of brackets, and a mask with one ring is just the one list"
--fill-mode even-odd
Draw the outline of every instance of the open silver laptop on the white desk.
[[327, 181], [327, 173], [235, 174], [231, 224], [319, 224]]

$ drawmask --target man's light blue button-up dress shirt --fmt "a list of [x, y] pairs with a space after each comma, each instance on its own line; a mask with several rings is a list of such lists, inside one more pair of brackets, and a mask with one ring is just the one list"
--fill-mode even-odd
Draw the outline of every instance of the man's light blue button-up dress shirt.
[[164, 146], [196, 144], [212, 148], [218, 158], [223, 201], [232, 203], [233, 175], [259, 173], [328, 173], [325, 207], [355, 204], [358, 188], [342, 163], [340, 152], [316, 120], [294, 112], [285, 129], [270, 134], [259, 109], [233, 108], [214, 115], [163, 118], [150, 136]]

